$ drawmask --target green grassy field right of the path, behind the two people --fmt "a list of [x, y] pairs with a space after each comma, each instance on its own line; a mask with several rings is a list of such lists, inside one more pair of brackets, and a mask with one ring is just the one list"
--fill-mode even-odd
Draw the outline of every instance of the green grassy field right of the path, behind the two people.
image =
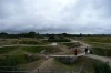
[[92, 45], [92, 53], [102, 56], [111, 56], [111, 36], [74, 36], [73, 39], [83, 41]]

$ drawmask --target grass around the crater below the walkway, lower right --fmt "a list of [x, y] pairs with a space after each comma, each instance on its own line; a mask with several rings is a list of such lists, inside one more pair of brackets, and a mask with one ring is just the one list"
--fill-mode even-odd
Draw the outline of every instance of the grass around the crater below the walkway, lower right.
[[82, 66], [81, 73], [94, 73], [93, 63], [100, 63], [100, 61], [80, 56], [80, 58], [78, 58], [78, 60], [75, 62], [65, 64], [58, 60], [54, 60], [54, 66], [57, 69], [60, 69], [63, 71], [79, 71], [80, 67]]

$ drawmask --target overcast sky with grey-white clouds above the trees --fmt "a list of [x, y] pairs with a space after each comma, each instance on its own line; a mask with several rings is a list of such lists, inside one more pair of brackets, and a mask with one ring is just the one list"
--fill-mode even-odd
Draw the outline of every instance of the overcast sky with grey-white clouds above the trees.
[[111, 33], [111, 0], [0, 0], [0, 32]]

